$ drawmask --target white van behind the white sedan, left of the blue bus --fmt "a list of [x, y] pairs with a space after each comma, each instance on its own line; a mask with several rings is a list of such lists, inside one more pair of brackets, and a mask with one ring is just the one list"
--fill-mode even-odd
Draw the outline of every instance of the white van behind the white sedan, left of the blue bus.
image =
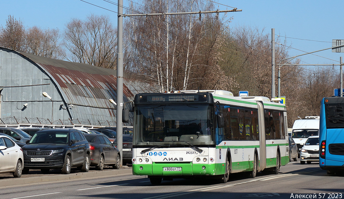
[[319, 136], [320, 116], [306, 116], [295, 120], [291, 137], [298, 146], [298, 154], [309, 136]]

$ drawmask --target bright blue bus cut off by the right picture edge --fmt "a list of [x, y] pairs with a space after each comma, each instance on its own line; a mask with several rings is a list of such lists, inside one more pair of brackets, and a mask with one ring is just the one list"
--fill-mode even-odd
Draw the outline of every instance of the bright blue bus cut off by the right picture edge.
[[319, 165], [327, 174], [344, 170], [344, 97], [324, 97], [320, 106]]

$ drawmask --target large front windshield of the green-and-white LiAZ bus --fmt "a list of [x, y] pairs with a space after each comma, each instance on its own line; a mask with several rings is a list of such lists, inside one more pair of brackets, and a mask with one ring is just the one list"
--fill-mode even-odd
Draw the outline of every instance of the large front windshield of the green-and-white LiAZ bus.
[[213, 105], [138, 105], [135, 109], [133, 145], [214, 144]]

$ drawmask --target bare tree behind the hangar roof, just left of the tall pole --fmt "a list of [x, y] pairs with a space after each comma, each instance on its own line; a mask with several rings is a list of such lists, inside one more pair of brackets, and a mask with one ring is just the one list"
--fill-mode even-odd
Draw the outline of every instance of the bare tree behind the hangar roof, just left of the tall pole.
[[64, 45], [69, 61], [116, 69], [117, 29], [108, 16], [72, 19], [66, 25]]

